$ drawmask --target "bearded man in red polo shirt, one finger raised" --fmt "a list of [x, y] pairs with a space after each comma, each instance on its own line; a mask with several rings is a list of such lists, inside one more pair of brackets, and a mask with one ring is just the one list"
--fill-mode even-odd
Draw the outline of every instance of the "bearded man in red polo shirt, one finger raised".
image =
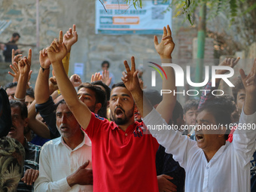
[[[168, 26], [168, 32], [164, 28], [163, 38], [170, 36]], [[157, 41], [156, 37], [154, 41]], [[168, 59], [168, 62], [173, 48], [172, 39], [169, 38], [156, 45], [157, 52], [163, 54], [160, 54], [161, 59]], [[158, 191], [155, 167], [158, 143], [150, 134], [145, 134], [147, 131], [142, 123], [134, 121], [135, 102], [130, 91], [123, 83], [112, 87], [110, 109], [114, 122], [109, 122], [93, 114], [78, 99], [62, 66], [62, 58], [66, 56], [62, 32], [59, 40], [55, 39], [47, 48], [47, 54], [62, 96], [92, 141], [93, 191]], [[164, 58], [164, 54], [168, 58]], [[170, 81], [174, 77], [173, 71], [166, 70], [166, 74], [169, 81], [163, 81], [163, 88], [173, 89], [175, 81]], [[168, 96], [163, 100], [169, 102]]]

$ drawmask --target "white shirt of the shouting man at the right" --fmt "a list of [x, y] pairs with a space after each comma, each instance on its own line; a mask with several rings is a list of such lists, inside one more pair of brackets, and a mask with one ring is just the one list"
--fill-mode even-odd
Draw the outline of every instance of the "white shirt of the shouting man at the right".
[[[143, 122], [149, 127], [167, 125], [155, 109]], [[245, 115], [243, 110], [239, 123], [256, 123], [256, 112]], [[166, 153], [173, 154], [186, 171], [185, 191], [247, 192], [250, 189], [250, 160], [255, 151], [256, 130], [236, 130], [233, 142], [226, 142], [207, 162], [197, 142], [182, 136], [175, 130], [164, 132], [150, 130]]]

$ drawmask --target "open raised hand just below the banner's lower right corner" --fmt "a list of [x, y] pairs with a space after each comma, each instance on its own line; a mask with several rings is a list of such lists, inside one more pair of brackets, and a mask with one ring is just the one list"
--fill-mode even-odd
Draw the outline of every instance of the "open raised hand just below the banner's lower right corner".
[[171, 59], [172, 58], [172, 51], [174, 50], [175, 44], [172, 41], [172, 32], [169, 25], [163, 27], [163, 38], [158, 43], [157, 36], [154, 35], [154, 47], [157, 50], [157, 53], [160, 55], [161, 59]]

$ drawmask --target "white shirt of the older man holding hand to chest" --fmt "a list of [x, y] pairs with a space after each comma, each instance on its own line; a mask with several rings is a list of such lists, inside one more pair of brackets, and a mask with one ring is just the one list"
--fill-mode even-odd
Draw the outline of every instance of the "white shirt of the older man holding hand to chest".
[[[84, 133], [84, 131], [82, 131]], [[88, 169], [92, 166], [92, 148], [87, 134], [84, 140], [74, 150], [69, 148], [62, 137], [53, 139], [41, 148], [39, 160], [39, 176], [35, 181], [35, 191], [93, 191], [93, 185], [78, 185], [70, 187], [67, 177], [76, 172], [87, 160]]]

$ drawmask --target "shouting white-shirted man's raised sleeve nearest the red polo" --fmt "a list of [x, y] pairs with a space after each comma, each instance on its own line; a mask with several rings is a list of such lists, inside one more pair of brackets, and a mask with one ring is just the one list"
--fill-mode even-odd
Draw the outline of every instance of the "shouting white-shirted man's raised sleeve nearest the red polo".
[[[166, 121], [163, 120], [154, 108], [143, 118], [143, 122], [148, 127], [152, 136], [157, 139], [157, 142], [166, 148], [166, 153], [172, 154], [173, 159], [186, 169], [189, 158], [199, 149], [197, 142], [189, 139], [187, 136], [182, 136], [178, 130], [169, 129], [170, 126], [168, 128]], [[162, 130], [160, 130], [161, 128]]]

